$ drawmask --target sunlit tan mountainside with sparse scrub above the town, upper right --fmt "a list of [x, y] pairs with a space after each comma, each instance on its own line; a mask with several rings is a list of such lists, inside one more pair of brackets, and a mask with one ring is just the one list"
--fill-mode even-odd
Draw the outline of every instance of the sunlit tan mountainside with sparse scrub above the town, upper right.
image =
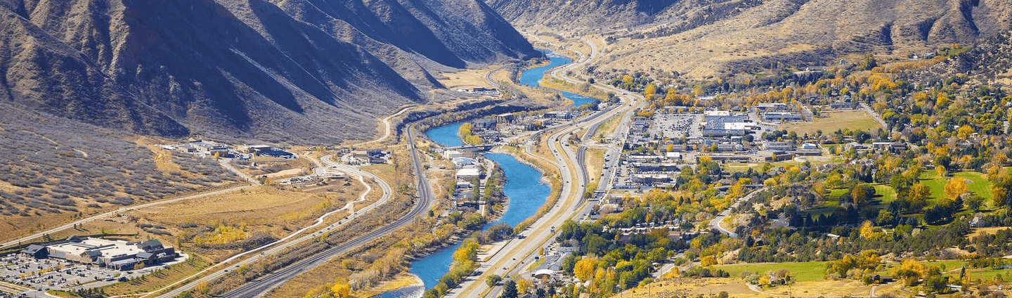
[[827, 65], [851, 54], [905, 58], [950, 44], [973, 45], [1012, 26], [1012, 4], [1002, 0], [490, 0], [489, 4], [521, 28], [599, 34], [608, 46], [598, 70], [652, 72], [653, 68], [660, 74], [674, 71], [693, 78], [759, 71], [776, 62]]

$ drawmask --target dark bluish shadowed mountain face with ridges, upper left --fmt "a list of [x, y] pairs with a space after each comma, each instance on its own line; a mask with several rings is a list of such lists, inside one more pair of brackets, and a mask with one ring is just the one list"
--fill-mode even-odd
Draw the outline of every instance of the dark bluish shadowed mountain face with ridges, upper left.
[[0, 98], [181, 137], [336, 142], [430, 71], [537, 53], [474, 0], [0, 0]]

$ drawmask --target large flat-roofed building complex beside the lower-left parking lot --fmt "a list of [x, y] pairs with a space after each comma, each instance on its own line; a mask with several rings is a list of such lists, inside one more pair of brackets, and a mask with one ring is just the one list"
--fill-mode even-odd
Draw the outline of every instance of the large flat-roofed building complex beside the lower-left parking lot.
[[175, 248], [162, 245], [158, 240], [128, 242], [77, 236], [52, 243], [31, 244], [21, 253], [34, 258], [53, 257], [121, 271], [134, 270], [141, 265], [172, 262], [179, 256]]

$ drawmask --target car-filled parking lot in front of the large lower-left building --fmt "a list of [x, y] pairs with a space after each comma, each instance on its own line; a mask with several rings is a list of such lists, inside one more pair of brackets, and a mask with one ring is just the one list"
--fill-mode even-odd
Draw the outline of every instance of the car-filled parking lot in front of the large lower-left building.
[[164, 265], [158, 265], [141, 270], [117, 271], [58, 258], [35, 259], [20, 254], [9, 254], [0, 257], [0, 279], [43, 291], [77, 290], [126, 281], [163, 267]]

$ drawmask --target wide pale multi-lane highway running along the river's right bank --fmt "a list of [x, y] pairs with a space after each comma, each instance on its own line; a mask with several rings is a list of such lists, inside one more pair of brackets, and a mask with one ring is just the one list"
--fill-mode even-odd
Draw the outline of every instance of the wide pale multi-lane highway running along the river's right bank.
[[[589, 41], [585, 42], [590, 44]], [[552, 74], [559, 76], [560, 73], [565, 73], [564, 71], [572, 70], [575, 67], [583, 67], [589, 61], [593, 61], [597, 57], [596, 53], [599, 52], [596, 51], [596, 47], [592, 46], [592, 48], [594, 49], [592, 51], [593, 56], [590, 58], [585, 58], [581, 55], [579, 63], [557, 69]], [[574, 81], [574, 79], [569, 79], [568, 77], [565, 79], [571, 82]], [[479, 277], [469, 278], [460, 285], [460, 289], [450, 291], [447, 295], [448, 297], [496, 297], [501, 291], [501, 287], [490, 289], [485, 283], [485, 279], [489, 275], [495, 274], [506, 277], [522, 273], [533, 262], [533, 257], [539, 250], [538, 248], [544, 247], [554, 241], [554, 228], [550, 227], [562, 226], [565, 221], [580, 214], [580, 212], [573, 212], [573, 210], [579, 209], [583, 204], [582, 196], [586, 191], [585, 187], [587, 182], [586, 168], [584, 168], [583, 161], [579, 158], [580, 154], [577, 152], [580, 149], [574, 149], [574, 146], [563, 144], [568, 143], [567, 140], [570, 140], [577, 131], [589, 130], [592, 127], [596, 128], [600, 123], [610, 118], [619, 117], [644, 104], [642, 96], [628, 95], [621, 90], [604, 84], [594, 85], [604, 90], [618, 91], [616, 94], [621, 94], [619, 97], [625, 100], [627, 104], [623, 103], [617, 108], [602, 110], [576, 120], [572, 124], [550, 129], [553, 133], [547, 137], [546, 144], [555, 160], [547, 160], [539, 155], [531, 155], [535, 156], [535, 158], [544, 159], [559, 167], [563, 180], [560, 200], [547, 213], [538, 218], [527, 230], [522, 232], [526, 237], [510, 240], [502, 249], [488, 256], [479, 269], [483, 274]], [[525, 150], [528, 154], [531, 153], [530, 147], [525, 148]]]

